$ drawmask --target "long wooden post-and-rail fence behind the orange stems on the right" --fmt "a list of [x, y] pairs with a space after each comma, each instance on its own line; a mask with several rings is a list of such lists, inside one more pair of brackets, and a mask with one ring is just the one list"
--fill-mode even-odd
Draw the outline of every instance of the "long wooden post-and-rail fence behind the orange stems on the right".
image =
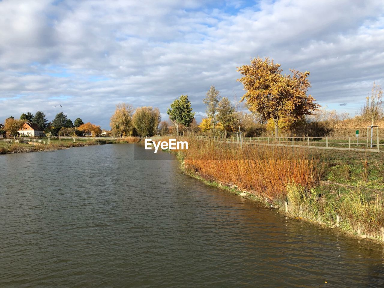
[[338, 149], [384, 152], [384, 138], [371, 137], [209, 137], [197, 136], [200, 140], [212, 140], [238, 144], [270, 146], [308, 147], [317, 149]]

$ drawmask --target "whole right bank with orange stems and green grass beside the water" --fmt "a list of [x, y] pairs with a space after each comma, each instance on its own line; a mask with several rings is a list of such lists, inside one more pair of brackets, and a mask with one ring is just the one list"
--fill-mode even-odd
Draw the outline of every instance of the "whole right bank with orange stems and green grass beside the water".
[[189, 139], [179, 151], [187, 174], [244, 190], [272, 207], [381, 238], [382, 156], [351, 151], [245, 146]]

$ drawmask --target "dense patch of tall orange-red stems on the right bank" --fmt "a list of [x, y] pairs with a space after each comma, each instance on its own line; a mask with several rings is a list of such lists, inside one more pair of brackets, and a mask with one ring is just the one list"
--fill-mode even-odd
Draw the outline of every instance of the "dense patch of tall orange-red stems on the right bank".
[[285, 197], [287, 183], [310, 189], [318, 180], [318, 160], [305, 149], [247, 145], [240, 149], [233, 144], [189, 140], [184, 153], [190, 172], [271, 199]]

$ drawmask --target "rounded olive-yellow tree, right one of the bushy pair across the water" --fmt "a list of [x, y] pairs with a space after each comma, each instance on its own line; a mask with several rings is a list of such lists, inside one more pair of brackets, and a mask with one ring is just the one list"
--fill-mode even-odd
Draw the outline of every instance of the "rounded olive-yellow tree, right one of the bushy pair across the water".
[[132, 124], [141, 137], [153, 136], [161, 121], [159, 108], [138, 107], [132, 116]]

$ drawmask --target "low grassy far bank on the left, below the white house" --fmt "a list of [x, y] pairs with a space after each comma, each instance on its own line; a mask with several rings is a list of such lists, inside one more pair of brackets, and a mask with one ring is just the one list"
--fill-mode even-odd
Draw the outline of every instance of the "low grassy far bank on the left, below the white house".
[[[48, 141], [47, 139], [41, 139]], [[103, 144], [115, 144], [115, 143], [136, 143], [140, 141], [138, 137], [130, 137], [125, 139], [108, 139], [108, 138], [88, 138], [88, 139], [50, 139], [50, 144], [43, 144], [32, 146], [31, 144], [25, 143], [12, 143], [7, 144], [6, 142], [0, 142], [0, 154], [8, 153], [25, 153], [25, 152], [36, 152], [36, 151], [52, 151], [58, 149], [67, 149], [71, 147], [84, 147], [92, 145], [103, 145]]]

